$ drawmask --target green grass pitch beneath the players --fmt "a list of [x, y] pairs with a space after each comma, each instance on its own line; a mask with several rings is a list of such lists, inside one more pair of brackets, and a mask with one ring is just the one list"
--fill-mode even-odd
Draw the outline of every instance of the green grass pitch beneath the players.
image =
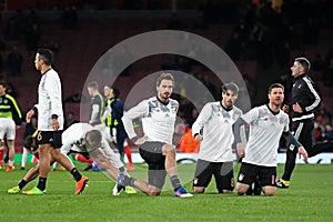
[[[84, 165], [78, 163], [78, 168]], [[19, 167], [17, 167], [19, 169]], [[235, 174], [239, 164], [235, 165]], [[279, 173], [283, 165], [279, 165]], [[27, 171], [0, 171], [0, 221], [331, 221], [333, 216], [333, 165], [296, 167], [292, 185], [275, 196], [216, 194], [211, 183], [205, 194], [192, 199], [172, 196], [170, 182], [160, 196], [142, 193], [112, 196], [114, 182], [103, 172], [90, 178], [84, 194], [74, 196], [75, 183], [64, 171], [50, 172], [48, 194], [7, 194]], [[179, 165], [181, 180], [191, 190], [194, 164]], [[145, 179], [145, 167], [135, 165], [133, 176]], [[32, 188], [37, 182], [28, 184]]]

